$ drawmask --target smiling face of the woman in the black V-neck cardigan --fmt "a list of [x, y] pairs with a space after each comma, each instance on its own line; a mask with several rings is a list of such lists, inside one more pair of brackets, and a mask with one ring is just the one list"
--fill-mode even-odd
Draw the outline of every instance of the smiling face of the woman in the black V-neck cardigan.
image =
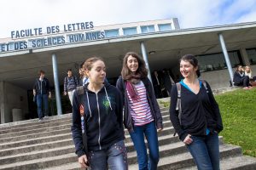
[[179, 65], [179, 71], [184, 78], [195, 77], [198, 67], [191, 65], [189, 61], [181, 60]]

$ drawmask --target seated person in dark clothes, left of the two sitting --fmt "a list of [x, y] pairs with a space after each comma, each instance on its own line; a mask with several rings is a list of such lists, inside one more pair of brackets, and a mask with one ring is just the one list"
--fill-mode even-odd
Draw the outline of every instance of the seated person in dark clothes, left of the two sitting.
[[249, 89], [250, 86], [250, 78], [248, 76], [245, 76], [245, 73], [241, 67], [241, 65], [238, 65], [236, 67], [236, 71], [234, 73], [233, 82], [236, 86], [242, 86], [243, 89]]

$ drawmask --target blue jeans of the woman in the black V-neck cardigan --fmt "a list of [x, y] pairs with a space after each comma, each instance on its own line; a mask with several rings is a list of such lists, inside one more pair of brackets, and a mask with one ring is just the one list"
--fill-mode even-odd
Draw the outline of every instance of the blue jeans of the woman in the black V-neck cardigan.
[[205, 137], [191, 136], [193, 142], [187, 144], [199, 170], [219, 170], [218, 133]]

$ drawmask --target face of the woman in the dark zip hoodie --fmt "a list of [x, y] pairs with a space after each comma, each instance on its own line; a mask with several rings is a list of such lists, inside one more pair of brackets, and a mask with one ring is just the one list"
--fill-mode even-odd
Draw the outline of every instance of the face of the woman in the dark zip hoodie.
[[86, 70], [86, 74], [90, 78], [90, 82], [96, 84], [102, 84], [106, 77], [106, 67], [102, 60], [97, 60], [92, 64], [90, 70]]

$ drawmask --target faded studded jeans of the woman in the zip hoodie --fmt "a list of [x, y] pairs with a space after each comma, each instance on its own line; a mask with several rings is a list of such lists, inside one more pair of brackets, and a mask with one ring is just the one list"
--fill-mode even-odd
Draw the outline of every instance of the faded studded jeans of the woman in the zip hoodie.
[[113, 144], [106, 150], [90, 151], [88, 161], [92, 170], [127, 170], [127, 152], [124, 140]]

